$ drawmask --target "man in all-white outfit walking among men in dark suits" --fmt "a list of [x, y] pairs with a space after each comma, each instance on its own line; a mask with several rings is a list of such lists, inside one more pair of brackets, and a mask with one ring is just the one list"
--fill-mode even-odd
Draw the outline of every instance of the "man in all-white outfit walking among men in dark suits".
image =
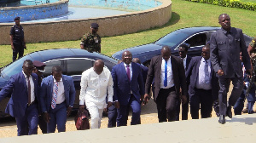
[[[81, 91], [79, 96], [79, 110], [84, 111], [85, 106], [90, 112], [90, 129], [100, 129], [102, 112], [113, 102], [113, 79], [111, 72], [104, 67], [102, 60], [96, 60], [94, 66], [84, 71], [81, 77]], [[107, 93], [108, 92], [108, 93]]]

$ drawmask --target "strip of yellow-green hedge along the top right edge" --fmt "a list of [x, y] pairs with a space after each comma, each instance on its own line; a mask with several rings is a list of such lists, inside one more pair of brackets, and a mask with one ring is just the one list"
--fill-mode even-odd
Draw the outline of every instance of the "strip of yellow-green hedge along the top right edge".
[[223, 6], [223, 7], [256, 11], [256, 3], [241, 2], [240, 0], [185, 0], [185, 1], [208, 3], [208, 4]]

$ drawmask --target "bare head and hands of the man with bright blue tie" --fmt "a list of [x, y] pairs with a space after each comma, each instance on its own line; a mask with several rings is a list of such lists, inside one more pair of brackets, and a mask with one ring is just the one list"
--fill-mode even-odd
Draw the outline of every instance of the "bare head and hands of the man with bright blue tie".
[[[169, 60], [171, 58], [171, 49], [164, 47], [161, 49], [161, 55], [164, 60]], [[148, 103], [149, 95], [144, 94], [143, 106]], [[187, 97], [185, 95], [181, 95], [182, 103], [185, 104], [187, 102]]]

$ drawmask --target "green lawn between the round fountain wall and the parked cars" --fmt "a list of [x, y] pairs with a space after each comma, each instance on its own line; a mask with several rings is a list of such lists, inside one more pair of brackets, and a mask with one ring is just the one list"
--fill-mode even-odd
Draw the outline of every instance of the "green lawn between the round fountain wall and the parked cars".
[[[165, 26], [122, 36], [102, 37], [102, 54], [110, 56], [120, 49], [151, 43], [167, 33], [183, 27], [219, 26], [218, 15], [222, 13], [230, 14], [232, 26], [241, 28], [244, 33], [251, 37], [256, 36], [256, 12], [254, 11], [172, 0], [172, 20]], [[25, 54], [28, 54], [42, 49], [79, 48], [79, 40], [56, 43], [28, 43], [26, 46], [28, 50], [25, 51]], [[12, 61], [10, 45], [0, 45], [0, 52], [2, 53], [0, 66], [5, 66]]]

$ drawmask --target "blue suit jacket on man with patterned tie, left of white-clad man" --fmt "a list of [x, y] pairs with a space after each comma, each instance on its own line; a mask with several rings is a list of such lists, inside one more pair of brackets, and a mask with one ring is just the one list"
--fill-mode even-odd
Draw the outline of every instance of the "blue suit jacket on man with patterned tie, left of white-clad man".
[[[73, 78], [70, 76], [62, 75], [62, 81], [64, 85], [64, 94], [65, 101], [67, 106], [73, 106], [73, 102], [75, 100], [76, 90], [73, 84]], [[45, 77], [41, 84], [41, 93], [40, 93], [40, 106], [42, 112], [49, 112], [49, 108], [51, 105], [52, 94], [53, 94], [53, 84], [54, 79], [53, 76], [50, 75]]]

